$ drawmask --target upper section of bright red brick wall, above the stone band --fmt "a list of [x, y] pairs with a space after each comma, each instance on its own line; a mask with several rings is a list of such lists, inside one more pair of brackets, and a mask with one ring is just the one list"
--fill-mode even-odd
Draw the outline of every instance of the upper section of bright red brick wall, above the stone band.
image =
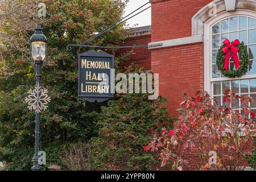
[[191, 19], [212, 0], [152, 0], [152, 42], [191, 36]]

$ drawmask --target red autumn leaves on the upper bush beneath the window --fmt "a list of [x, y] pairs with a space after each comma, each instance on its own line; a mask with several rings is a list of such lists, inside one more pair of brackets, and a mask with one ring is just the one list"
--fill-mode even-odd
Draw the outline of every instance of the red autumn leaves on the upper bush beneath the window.
[[[241, 107], [230, 107], [234, 106], [235, 102], [241, 102]], [[221, 146], [222, 150], [226, 150], [225, 147], [229, 146], [229, 143], [243, 143], [246, 137], [250, 138], [251, 134], [255, 134], [255, 114], [249, 107], [249, 103], [252, 102], [254, 101], [251, 97], [239, 96], [231, 90], [224, 92], [223, 103], [227, 103], [226, 106], [213, 101], [206, 92], [197, 92], [195, 97], [187, 96], [187, 100], [180, 104], [183, 108], [174, 122], [174, 129], [163, 128], [160, 137], [154, 137], [144, 147], [144, 151], [159, 152], [161, 166], [170, 164], [172, 167], [175, 166], [175, 160], [176, 163], [181, 160], [181, 151], [199, 152], [200, 155], [208, 157], [209, 151], [205, 146], [212, 150]], [[242, 132], [245, 136], [239, 138], [240, 136], [234, 132]], [[225, 136], [229, 139], [223, 138]], [[239, 151], [240, 147], [236, 146], [236, 150]]]

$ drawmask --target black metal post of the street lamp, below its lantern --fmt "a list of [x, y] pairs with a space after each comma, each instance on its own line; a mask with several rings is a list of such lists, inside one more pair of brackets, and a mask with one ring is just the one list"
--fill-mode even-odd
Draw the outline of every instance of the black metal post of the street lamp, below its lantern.
[[[41, 80], [41, 68], [43, 61], [38, 60], [35, 61], [36, 64], [36, 84], [40, 85]], [[35, 121], [35, 154], [33, 157], [33, 167], [31, 168], [32, 171], [40, 171], [42, 167], [38, 164], [38, 152], [40, 151], [40, 113], [36, 112], [36, 121]]]

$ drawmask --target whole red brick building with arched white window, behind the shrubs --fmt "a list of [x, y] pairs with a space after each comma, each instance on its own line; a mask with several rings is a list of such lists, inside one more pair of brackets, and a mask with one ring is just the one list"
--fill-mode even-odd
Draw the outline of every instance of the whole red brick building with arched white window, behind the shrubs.
[[[125, 45], [150, 46], [135, 49], [131, 61], [159, 73], [160, 95], [168, 98], [172, 115], [184, 92], [206, 90], [222, 104], [223, 90], [230, 88], [256, 100], [256, 0], [151, 0], [151, 6], [152, 26], [133, 28]], [[238, 38], [251, 52], [251, 68], [242, 77], [226, 78], [216, 67], [226, 38]]]

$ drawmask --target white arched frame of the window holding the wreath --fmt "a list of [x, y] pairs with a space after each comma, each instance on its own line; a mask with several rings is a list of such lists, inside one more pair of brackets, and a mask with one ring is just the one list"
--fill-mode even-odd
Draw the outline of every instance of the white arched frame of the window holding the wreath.
[[[225, 81], [226, 78], [212, 78], [212, 64], [210, 63], [210, 56], [212, 51], [210, 50], [210, 43], [212, 40], [211, 27], [220, 22], [221, 20], [230, 18], [232, 16], [247, 16], [249, 18], [256, 19], [256, 14], [251, 10], [237, 10], [233, 12], [224, 12], [218, 14], [216, 17], [210, 18], [204, 23], [204, 90], [212, 95], [212, 82], [213, 81]], [[256, 75], [245, 75], [240, 78], [229, 78], [229, 80], [240, 80], [256, 78]]]

